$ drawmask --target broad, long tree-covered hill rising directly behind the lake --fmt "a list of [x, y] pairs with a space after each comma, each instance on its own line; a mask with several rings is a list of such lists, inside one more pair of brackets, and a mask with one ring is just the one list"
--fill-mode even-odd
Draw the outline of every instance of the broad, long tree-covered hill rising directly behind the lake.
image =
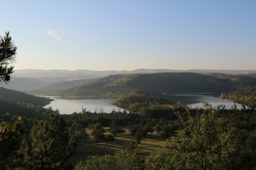
[[237, 87], [255, 86], [256, 78], [224, 74], [161, 72], [110, 75], [82, 86], [56, 91], [66, 97], [117, 99], [123, 94], [138, 92], [154, 95], [178, 92], [228, 92]]

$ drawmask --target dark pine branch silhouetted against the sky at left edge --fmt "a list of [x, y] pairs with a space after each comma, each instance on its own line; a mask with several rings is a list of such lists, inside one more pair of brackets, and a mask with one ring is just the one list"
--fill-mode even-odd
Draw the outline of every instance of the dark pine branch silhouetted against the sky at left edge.
[[0, 36], [0, 80], [7, 83], [14, 66], [9, 66], [15, 61], [17, 47], [13, 44], [9, 32], [5, 32], [5, 36]]

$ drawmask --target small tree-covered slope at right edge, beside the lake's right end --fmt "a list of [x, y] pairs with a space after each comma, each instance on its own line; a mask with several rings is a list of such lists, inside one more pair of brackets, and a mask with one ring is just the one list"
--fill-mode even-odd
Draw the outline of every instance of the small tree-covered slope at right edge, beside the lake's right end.
[[230, 93], [222, 93], [220, 98], [232, 99], [236, 102], [246, 104], [252, 108], [256, 107], [256, 86], [245, 87]]

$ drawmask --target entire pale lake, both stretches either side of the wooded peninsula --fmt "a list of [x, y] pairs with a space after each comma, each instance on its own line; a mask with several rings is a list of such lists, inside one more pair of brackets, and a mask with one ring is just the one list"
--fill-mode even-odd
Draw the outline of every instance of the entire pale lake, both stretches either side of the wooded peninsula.
[[[179, 94], [166, 94], [163, 96], [174, 102], [181, 102], [182, 104], [188, 104], [192, 108], [203, 107], [204, 102], [210, 103], [213, 107], [218, 105], [226, 105], [229, 109], [234, 104], [232, 100], [221, 99], [211, 93], [179, 93]], [[54, 99], [45, 108], [52, 107], [53, 110], [58, 109], [60, 114], [72, 114], [73, 112], [81, 112], [82, 108], [86, 108], [87, 111], [100, 112], [104, 111], [107, 113], [112, 112], [112, 110], [118, 110], [120, 108], [112, 105], [115, 100], [112, 99], [62, 99], [60, 97], [49, 96], [49, 98]], [[236, 103], [237, 108], [241, 109], [242, 105]], [[122, 111], [122, 109], [121, 109]]]

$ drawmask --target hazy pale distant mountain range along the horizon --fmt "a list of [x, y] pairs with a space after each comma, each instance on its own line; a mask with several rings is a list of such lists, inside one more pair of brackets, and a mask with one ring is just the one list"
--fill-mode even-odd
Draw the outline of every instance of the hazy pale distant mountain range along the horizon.
[[8, 85], [2, 83], [0, 86], [28, 92], [31, 90], [42, 89], [42, 91], [52, 92], [56, 89], [66, 89], [80, 86], [84, 83], [94, 81], [108, 75], [120, 74], [135, 74], [135, 73], [158, 73], [158, 72], [196, 72], [196, 73], [219, 73], [226, 75], [238, 75], [256, 77], [256, 70], [209, 70], [209, 69], [189, 69], [189, 70], [174, 70], [174, 69], [135, 69], [127, 70], [42, 70], [42, 69], [23, 69], [14, 70]]

